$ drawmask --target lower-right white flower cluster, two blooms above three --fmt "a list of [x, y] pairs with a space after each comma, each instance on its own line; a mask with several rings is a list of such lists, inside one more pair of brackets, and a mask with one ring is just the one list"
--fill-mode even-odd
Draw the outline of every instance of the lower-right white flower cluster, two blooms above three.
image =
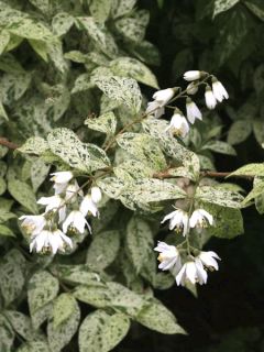
[[[190, 216], [182, 209], [176, 209], [168, 213], [162, 220], [162, 223], [167, 220], [169, 220], [169, 230], [176, 229], [177, 232], [183, 231], [184, 237], [188, 235], [190, 229], [196, 228], [200, 231], [213, 224], [212, 216], [205, 209], [196, 209]], [[182, 248], [182, 244], [179, 248]], [[218, 263], [216, 260], [220, 260], [212, 251], [199, 251], [198, 255], [193, 255], [189, 244], [187, 251], [185, 251], [183, 249], [178, 250], [176, 246], [168, 245], [165, 242], [158, 242], [154, 251], [160, 252], [158, 261], [161, 264], [158, 268], [170, 271], [176, 278], [177, 285], [183, 286], [186, 285], [187, 282], [191, 284], [199, 283], [200, 285], [206, 284], [208, 276], [207, 268], [217, 271]], [[194, 252], [197, 253], [197, 250]], [[183, 258], [185, 258], [184, 265]]]

